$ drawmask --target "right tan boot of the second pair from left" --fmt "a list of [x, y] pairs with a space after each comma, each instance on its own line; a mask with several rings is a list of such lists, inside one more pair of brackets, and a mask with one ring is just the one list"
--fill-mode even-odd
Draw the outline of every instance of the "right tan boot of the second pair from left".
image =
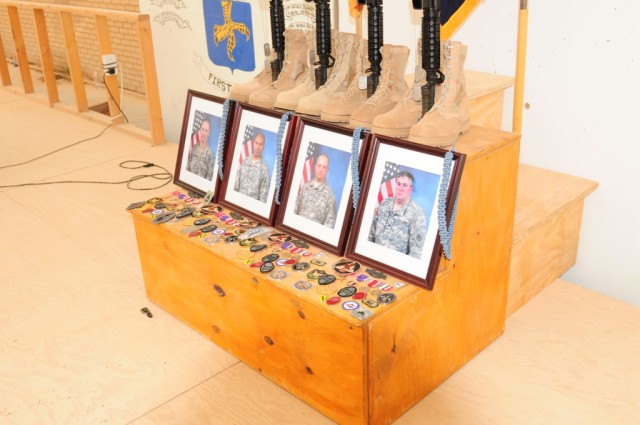
[[300, 114], [320, 115], [322, 108], [332, 99], [344, 94], [356, 74], [356, 56], [354, 50], [355, 34], [336, 31], [334, 50], [336, 62], [327, 83], [314, 93], [298, 102], [296, 112]]

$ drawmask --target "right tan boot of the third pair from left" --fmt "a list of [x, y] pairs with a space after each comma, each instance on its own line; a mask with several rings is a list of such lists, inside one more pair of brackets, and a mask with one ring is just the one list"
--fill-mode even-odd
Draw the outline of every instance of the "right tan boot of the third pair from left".
[[409, 59], [407, 46], [385, 44], [381, 48], [382, 70], [376, 92], [358, 106], [349, 119], [349, 127], [367, 127], [376, 116], [390, 111], [409, 91], [404, 70]]

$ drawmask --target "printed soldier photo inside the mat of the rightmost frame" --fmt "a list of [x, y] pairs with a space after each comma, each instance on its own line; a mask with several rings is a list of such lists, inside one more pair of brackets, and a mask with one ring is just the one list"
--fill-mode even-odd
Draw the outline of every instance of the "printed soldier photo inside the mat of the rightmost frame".
[[421, 258], [438, 176], [386, 162], [368, 240]]

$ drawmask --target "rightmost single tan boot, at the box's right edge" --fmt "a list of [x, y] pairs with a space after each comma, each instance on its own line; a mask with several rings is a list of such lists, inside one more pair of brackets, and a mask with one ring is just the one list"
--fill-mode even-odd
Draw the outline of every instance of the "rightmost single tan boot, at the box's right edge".
[[444, 83], [431, 110], [411, 127], [409, 140], [429, 146], [450, 146], [459, 134], [471, 126], [471, 112], [464, 79], [467, 46], [457, 41], [445, 41]]

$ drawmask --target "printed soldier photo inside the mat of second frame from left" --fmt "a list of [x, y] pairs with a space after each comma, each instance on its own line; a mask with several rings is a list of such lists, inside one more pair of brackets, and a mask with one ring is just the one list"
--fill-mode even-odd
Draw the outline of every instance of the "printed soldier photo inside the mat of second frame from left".
[[276, 134], [246, 126], [237, 163], [233, 190], [260, 202], [267, 202], [276, 157]]

